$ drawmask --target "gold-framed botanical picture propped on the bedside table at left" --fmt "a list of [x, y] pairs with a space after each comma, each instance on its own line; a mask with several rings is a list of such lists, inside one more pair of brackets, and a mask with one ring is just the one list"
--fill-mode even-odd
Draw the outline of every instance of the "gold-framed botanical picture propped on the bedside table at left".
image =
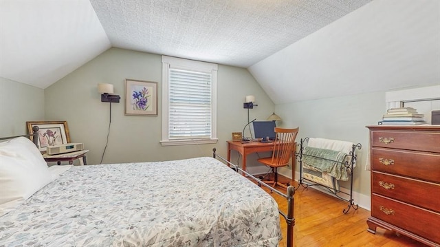
[[67, 121], [28, 121], [26, 125], [28, 126], [29, 133], [33, 133], [32, 128], [34, 126], [39, 127], [37, 146], [40, 151], [46, 151], [47, 146], [56, 146], [70, 142]]

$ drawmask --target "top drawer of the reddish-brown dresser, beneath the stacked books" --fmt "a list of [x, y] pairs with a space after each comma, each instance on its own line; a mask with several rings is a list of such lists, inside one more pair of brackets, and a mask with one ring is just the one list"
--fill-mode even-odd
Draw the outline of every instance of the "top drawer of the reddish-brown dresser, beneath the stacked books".
[[440, 153], [440, 132], [374, 130], [371, 131], [371, 145]]

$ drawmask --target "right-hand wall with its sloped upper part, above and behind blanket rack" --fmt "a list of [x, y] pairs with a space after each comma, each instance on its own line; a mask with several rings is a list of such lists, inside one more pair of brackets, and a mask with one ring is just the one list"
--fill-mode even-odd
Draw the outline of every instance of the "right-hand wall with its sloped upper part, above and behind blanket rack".
[[439, 10], [434, 0], [374, 0], [249, 68], [282, 126], [300, 127], [298, 141], [362, 144], [353, 185], [361, 196], [370, 194], [365, 126], [382, 119], [385, 93], [439, 85]]

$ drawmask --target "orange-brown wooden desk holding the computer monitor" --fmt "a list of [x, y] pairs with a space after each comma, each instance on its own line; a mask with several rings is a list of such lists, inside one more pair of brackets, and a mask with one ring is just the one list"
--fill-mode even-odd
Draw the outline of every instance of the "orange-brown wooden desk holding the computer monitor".
[[[231, 150], [235, 150], [243, 157], [242, 169], [246, 171], [246, 156], [250, 153], [268, 152], [274, 149], [274, 142], [233, 142], [228, 140], [228, 161], [231, 161]], [[295, 178], [295, 155], [296, 143], [292, 150], [292, 179]]]

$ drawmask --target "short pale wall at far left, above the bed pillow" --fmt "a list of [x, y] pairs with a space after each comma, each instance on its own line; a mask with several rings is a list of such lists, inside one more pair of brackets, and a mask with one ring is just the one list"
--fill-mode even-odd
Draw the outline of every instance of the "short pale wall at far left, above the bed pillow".
[[0, 136], [28, 133], [26, 121], [44, 120], [44, 90], [0, 77]]

